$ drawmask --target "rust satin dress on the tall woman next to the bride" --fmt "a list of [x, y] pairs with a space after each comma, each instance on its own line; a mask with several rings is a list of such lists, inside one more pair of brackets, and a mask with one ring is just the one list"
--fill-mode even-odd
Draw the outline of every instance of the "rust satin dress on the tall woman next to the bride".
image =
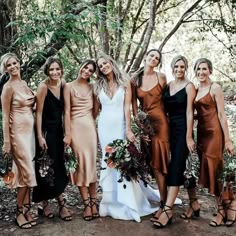
[[158, 83], [152, 89], [144, 91], [136, 88], [140, 107], [148, 114], [155, 135], [151, 136], [151, 166], [163, 175], [168, 173], [170, 159], [169, 126], [164, 111], [163, 88]]

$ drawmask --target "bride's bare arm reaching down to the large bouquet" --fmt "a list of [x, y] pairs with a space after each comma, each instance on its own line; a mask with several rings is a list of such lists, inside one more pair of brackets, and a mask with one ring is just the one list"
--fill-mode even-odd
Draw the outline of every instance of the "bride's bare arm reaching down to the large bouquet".
[[131, 85], [128, 82], [126, 93], [125, 93], [125, 101], [124, 101], [124, 112], [125, 112], [125, 121], [126, 121], [126, 136], [131, 141], [134, 142], [134, 134], [131, 131], [131, 113], [130, 113], [130, 105], [132, 99]]

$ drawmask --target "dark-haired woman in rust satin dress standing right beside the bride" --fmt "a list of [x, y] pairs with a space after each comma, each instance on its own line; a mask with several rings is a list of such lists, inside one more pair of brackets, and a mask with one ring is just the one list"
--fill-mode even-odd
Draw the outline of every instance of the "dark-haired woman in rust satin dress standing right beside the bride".
[[155, 221], [162, 212], [166, 201], [166, 175], [169, 163], [169, 130], [167, 117], [164, 112], [163, 91], [166, 87], [166, 76], [155, 72], [161, 65], [161, 52], [151, 49], [146, 53], [144, 68], [133, 76], [133, 113], [137, 114], [137, 99], [141, 110], [147, 112], [155, 134], [151, 136], [151, 166], [160, 191], [160, 210], [151, 221]]

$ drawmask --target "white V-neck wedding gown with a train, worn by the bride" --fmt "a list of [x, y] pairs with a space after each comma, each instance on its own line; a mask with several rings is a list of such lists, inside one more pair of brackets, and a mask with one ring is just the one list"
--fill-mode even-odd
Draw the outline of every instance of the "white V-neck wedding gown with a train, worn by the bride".
[[[135, 220], [140, 222], [141, 216], [149, 215], [159, 207], [151, 206], [149, 200], [160, 201], [159, 191], [144, 186], [140, 181], [126, 181], [118, 183], [120, 173], [107, 167], [104, 156], [105, 147], [115, 139], [125, 139], [124, 97], [125, 91], [119, 87], [110, 99], [101, 90], [99, 100], [102, 105], [98, 120], [98, 136], [102, 148], [102, 163], [100, 186], [103, 190], [99, 207], [101, 216], [111, 216], [114, 219]], [[126, 188], [123, 185], [126, 185]]]

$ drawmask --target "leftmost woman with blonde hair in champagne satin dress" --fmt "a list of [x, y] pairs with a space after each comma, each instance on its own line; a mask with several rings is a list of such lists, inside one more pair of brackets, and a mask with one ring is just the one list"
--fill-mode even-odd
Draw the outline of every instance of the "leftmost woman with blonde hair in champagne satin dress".
[[30, 188], [36, 186], [33, 159], [35, 134], [33, 91], [21, 79], [20, 63], [15, 54], [1, 57], [1, 72], [8, 72], [10, 79], [1, 95], [3, 114], [4, 153], [12, 153], [14, 178], [10, 187], [17, 188], [17, 212], [15, 222], [20, 228], [36, 225], [30, 213]]

